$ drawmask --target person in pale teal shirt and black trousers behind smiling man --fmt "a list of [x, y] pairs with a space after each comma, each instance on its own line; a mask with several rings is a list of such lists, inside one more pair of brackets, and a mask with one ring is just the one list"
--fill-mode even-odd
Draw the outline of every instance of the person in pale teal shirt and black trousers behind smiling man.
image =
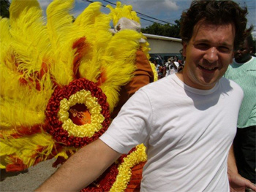
[[234, 153], [238, 172], [256, 183], [255, 176], [255, 129], [256, 129], [256, 58], [252, 56], [252, 35], [237, 50], [233, 64], [225, 77], [235, 81], [244, 91], [244, 100], [238, 115], [238, 129], [234, 139]]

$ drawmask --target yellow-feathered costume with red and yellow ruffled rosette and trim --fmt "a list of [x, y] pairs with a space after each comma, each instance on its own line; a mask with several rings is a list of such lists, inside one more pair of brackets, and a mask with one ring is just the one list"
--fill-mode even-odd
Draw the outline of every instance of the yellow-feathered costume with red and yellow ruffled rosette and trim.
[[[140, 32], [110, 32], [111, 20], [140, 22], [131, 6], [118, 2], [104, 14], [94, 2], [74, 20], [73, 3], [53, 1], [46, 22], [36, 0], [12, 0], [10, 19], [0, 20], [0, 155], [7, 172], [51, 158], [56, 166], [99, 138], [135, 72], [136, 51], [148, 55]], [[132, 191], [145, 161], [138, 145], [83, 191]]]

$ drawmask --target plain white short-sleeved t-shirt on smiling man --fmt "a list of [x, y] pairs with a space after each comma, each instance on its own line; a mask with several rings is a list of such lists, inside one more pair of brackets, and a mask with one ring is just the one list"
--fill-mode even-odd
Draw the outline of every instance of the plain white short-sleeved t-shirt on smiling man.
[[203, 91], [172, 74], [140, 88], [100, 139], [118, 153], [147, 147], [140, 191], [229, 191], [227, 154], [242, 99], [224, 77]]

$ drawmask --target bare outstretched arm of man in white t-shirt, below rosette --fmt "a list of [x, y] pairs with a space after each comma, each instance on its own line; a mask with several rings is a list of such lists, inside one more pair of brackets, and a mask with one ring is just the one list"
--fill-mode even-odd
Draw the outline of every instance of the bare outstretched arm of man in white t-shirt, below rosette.
[[97, 139], [72, 155], [36, 191], [80, 191], [96, 180], [120, 155]]

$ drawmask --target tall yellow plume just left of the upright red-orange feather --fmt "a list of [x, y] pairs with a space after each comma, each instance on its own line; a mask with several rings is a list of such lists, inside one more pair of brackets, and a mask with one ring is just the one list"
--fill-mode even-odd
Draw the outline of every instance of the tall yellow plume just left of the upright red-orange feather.
[[72, 39], [69, 33], [72, 32], [72, 15], [69, 15], [74, 0], [54, 0], [46, 9], [48, 23], [48, 35], [52, 53], [50, 58], [51, 74], [61, 85], [67, 85], [73, 80], [72, 58]]

